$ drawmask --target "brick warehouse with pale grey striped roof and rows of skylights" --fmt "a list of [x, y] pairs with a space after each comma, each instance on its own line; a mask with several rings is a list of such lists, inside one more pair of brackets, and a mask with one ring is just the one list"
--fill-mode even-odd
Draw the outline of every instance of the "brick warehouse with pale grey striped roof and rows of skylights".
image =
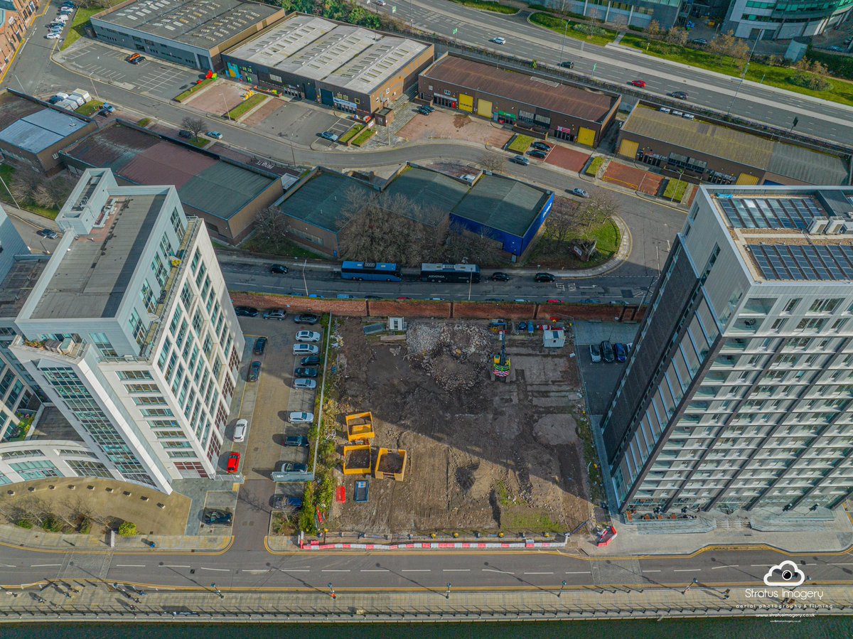
[[432, 62], [432, 44], [293, 15], [223, 54], [225, 72], [361, 118], [403, 95]]

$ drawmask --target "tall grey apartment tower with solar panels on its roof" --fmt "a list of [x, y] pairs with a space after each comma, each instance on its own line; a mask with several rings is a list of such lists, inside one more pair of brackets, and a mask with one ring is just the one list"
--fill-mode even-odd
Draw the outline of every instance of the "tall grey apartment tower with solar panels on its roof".
[[851, 402], [853, 189], [700, 189], [601, 424], [619, 510], [835, 508]]

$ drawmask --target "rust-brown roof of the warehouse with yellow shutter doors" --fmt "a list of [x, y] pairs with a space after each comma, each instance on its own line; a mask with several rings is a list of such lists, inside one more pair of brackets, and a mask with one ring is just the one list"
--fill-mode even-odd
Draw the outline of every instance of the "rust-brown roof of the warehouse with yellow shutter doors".
[[618, 101], [618, 96], [610, 96], [601, 91], [582, 89], [518, 71], [508, 71], [454, 55], [439, 59], [421, 75], [438, 82], [456, 84], [462, 90], [502, 96], [589, 122], [603, 121]]

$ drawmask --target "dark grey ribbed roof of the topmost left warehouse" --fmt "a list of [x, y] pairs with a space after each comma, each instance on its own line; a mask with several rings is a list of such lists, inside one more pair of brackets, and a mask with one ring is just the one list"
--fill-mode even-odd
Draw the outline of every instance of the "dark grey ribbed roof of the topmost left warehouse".
[[137, 0], [94, 20], [213, 49], [279, 12], [280, 7], [243, 0]]

